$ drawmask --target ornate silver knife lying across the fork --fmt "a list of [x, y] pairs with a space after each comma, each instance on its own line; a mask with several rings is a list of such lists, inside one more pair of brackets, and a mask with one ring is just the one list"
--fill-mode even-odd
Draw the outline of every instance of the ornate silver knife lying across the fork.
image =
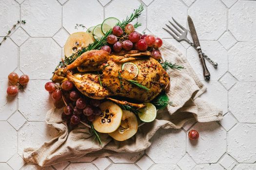
[[204, 59], [204, 56], [203, 56], [203, 52], [201, 50], [200, 43], [199, 43], [199, 40], [198, 40], [198, 37], [197, 37], [197, 32], [196, 32], [194, 23], [193, 23], [193, 21], [192, 21], [190, 16], [188, 16], [188, 26], [189, 26], [189, 29], [190, 29], [190, 33], [192, 35], [192, 39], [193, 39], [194, 45], [195, 45], [195, 47], [197, 49], [197, 52], [198, 52], [198, 55], [199, 55], [199, 60], [200, 60], [200, 62], [202, 64], [202, 67], [203, 67], [204, 79], [209, 81], [211, 75], [210, 75], [210, 72], [208, 71], [208, 69], [206, 67], [205, 59]]

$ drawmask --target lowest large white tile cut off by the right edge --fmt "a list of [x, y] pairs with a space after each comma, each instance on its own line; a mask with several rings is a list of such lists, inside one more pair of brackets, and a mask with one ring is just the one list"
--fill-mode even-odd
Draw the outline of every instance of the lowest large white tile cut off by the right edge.
[[256, 161], [256, 124], [239, 123], [228, 132], [227, 152], [239, 163]]

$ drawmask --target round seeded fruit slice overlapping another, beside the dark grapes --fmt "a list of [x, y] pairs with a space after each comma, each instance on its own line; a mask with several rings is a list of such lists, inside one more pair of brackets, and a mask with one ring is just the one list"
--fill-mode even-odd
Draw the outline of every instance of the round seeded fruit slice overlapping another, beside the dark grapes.
[[102, 112], [93, 121], [94, 129], [100, 133], [116, 131], [121, 124], [122, 109], [113, 102], [103, 102], [99, 108]]

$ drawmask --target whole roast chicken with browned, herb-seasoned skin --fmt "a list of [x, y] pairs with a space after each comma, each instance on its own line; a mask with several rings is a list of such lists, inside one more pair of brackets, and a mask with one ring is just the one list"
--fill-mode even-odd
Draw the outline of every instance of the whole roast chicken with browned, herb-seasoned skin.
[[[72, 81], [81, 93], [93, 99], [122, 96], [149, 102], [162, 90], [169, 91], [170, 87], [167, 72], [157, 60], [149, 56], [149, 51], [125, 54], [124, 56], [109, 55], [106, 51], [101, 50], [87, 51], [67, 66], [67, 70], [78, 68], [79, 71], [84, 72], [74, 75], [67, 73], [66, 78]], [[138, 67], [137, 77], [132, 77], [128, 71], [121, 71], [124, 62], [132, 62]], [[106, 65], [109, 66], [102, 69]], [[102, 86], [99, 84], [98, 74], [88, 71], [102, 73], [100, 75]], [[124, 79], [118, 78], [118, 71], [121, 71], [121, 77]], [[127, 80], [138, 81], [150, 90], [142, 89]]]

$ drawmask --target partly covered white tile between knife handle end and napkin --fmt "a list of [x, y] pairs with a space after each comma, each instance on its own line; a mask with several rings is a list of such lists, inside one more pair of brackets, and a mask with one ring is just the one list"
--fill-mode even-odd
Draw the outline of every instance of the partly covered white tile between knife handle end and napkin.
[[223, 114], [228, 112], [228, 91], [219, 82], [205, 82], [207, 91], [200, 97], [212, 104], [215, 104], [218, 108], [222, 109]]

